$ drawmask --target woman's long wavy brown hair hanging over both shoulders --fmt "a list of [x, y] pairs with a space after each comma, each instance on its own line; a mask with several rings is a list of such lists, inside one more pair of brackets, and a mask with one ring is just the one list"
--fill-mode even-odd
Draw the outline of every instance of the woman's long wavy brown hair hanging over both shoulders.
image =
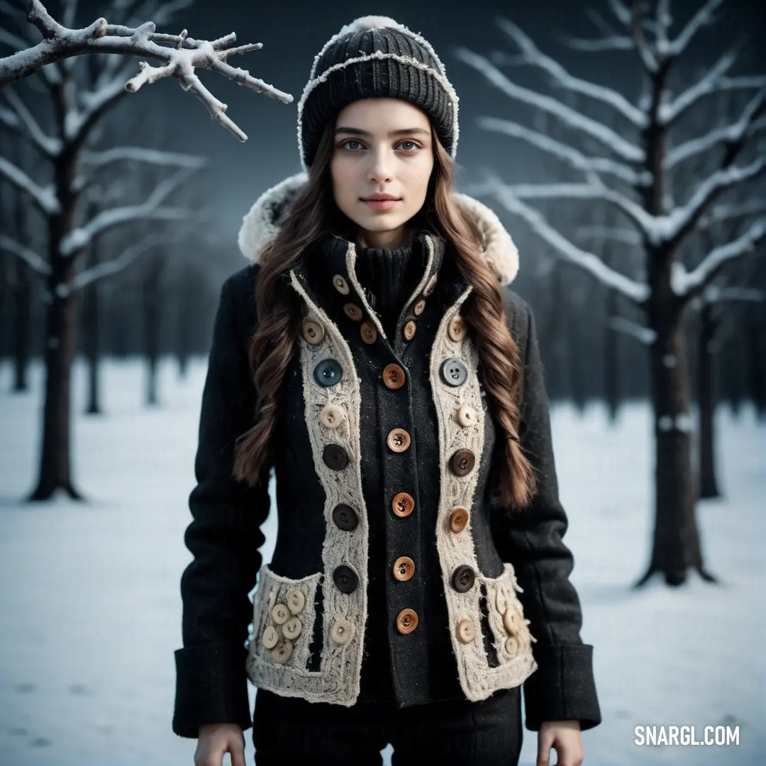
[[[280, 412], [280, 391], [296, 352], [302, 319], [300, 296], [290, 285], [306, 247], [327, 231], [354, 239], [353, 224], [332, 196], [330, 161], [334, 124], [326, 126], [306, 185], [296, 196], [279, 234], [261, 251], [255, 289], [257, 328], [247, 346], [257, 391], [255, 424], [237, 439], [233, 475], [250, 486], [267, 480]], [[509, 511], [529, 505], [535, 473], [519, 445], [519, 397], [523, 371], [510, 332], [499, 280], [480, 251], [480, 232], [453, 200], [455, 165], [431, 128], [434, 170], [426, 201], [409, 227], [428, 228], [444, 239], [457, 267], [473, 286], [463, 303], [463, 319], [473, 328], [480, 356], [480, 378], [498, 438], [493, 455], [493, 502]]]

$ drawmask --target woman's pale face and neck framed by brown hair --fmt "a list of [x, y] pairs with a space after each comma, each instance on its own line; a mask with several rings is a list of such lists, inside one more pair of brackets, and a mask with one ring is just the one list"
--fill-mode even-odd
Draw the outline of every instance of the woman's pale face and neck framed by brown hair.
[[[399, 247], [405, 224], [422, 207], [434, 169], [430, 121], [395, 98], [365, 98], [345, 106], [333, 136], [332, 195], [358, 226], [362, 247]], [[395, 201], [372, 203], [372, 195]]]

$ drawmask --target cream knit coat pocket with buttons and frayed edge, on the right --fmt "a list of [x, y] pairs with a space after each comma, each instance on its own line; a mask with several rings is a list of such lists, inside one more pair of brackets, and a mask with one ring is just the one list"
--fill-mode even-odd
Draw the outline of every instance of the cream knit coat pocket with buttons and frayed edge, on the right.
[[537, 640], [529, 630], [529, 620], [525, 620], [522, 602], [516, 595], [522, 589], [516, 582], [513, 565], [506, 563], [503, 566], [504, 571], [498, 578], [481, 578], [486, 589], [493, 646], [501, 664], [530, 654], [532, 643]]

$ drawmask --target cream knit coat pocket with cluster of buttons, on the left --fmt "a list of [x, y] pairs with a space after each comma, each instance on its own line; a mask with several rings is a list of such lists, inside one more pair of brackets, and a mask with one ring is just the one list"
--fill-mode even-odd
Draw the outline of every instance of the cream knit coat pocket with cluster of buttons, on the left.
[[274, 574], [264, 564], [253, 599], [253, 634], [247, 666], [306, 670], [316, 620], [316, 589], [322, 573], [300, 580]]

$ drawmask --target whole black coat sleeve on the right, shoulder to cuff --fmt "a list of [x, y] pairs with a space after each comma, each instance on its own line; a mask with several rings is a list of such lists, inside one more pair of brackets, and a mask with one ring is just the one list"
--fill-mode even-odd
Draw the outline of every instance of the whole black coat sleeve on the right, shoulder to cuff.
[[495, 538], [503, 561], [510, 561], [523, 592], [519, 599], [537, 643], [538, 669], [524, 683], [525, 725], [532, 732], [544, 721], [601, 723], [593, 676], [593, 647], [582, 642], [580, 601], [569, 575], [574, 558], [562, 538], [568, 526], [558, 499], [548, 397], [529, 306], [506, 293], [510, 326], [524, 364], [519, 440], [532, 463], [537, 489], [529, 507], [510, 517], [496, 514]]

